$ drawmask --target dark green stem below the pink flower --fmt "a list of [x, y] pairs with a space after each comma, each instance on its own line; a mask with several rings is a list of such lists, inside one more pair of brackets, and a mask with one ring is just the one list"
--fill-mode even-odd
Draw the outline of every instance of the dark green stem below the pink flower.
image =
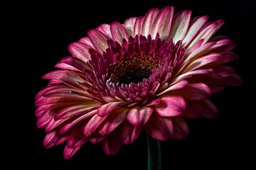
[[161, 170], [161, 148], [159, 140], [146, 136], [148, 146], [148, 170]]

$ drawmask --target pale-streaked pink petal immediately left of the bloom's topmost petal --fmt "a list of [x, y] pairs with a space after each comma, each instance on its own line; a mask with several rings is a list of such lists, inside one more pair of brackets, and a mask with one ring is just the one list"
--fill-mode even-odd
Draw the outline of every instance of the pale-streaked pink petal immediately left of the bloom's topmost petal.
[[151, 27], [158, 13], [158, 8], [152, 8], [150, 11], [146, 13], [146, 16], [142, 24], [142, 35], [144, 35], [145, 37], [147, 37], [147, 35], [151, 33]]

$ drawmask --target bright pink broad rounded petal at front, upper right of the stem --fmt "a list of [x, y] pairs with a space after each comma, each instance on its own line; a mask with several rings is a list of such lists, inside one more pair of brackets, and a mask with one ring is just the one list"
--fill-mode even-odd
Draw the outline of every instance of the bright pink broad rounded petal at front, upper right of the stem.
[[186, 102], [181, 96], [164, 96], [155, 107], [156, 113], [161, 116], [181, 115], [186, 109]]

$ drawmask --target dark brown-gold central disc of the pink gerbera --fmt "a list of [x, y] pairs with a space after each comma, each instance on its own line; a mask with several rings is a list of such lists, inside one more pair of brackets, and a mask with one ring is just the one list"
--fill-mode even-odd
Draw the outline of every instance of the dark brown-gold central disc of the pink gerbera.
[[110, 66], [111, 81], [115, 84], [135, 84], [148, 79], [158, 61], [151, 57], [133, 56], [127, 57]]

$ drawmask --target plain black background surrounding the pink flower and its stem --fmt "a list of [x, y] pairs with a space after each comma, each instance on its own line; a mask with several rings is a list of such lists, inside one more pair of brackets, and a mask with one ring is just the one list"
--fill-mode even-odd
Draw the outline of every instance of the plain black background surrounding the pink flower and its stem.
[[[232, 169], [246, 167], [252, 162], [248, 157], [249, 147], [254, 135], [250, 132], [250, 119], [255, 113], [252, 102], [247, 98], [249, 80], [254, 79], [252, 72], [252, 26], [253, 18], [247, 1], [119, 1], [82, 3], [29, 3], [19, 8], [16, 28], [21, 30], [20, 44], [24, 45], [19, 59], [22, 58], [21, 76], [16, 75], [22, 84], [21, 110], [14, 134], [14, 149], [11, 159], [26, 168], [33, 169], [146, 169], [146, 136], [140, 135], [132, 145], [124, 146], [113, 157], [107, 157], [100, 144], [87, 143], [70, 160], [63, 159], [63, 147], [45, 149], [45, 132], [36, 128], [33, 105], [36, 93], [46, 86], [41, 79], [43, 74], [53, 70], [53, 66], [67, 57], [68, 44], [86, 36], [87, 30], [101, 23], [124, 20], [131, 16], [142, 16], [150, 8], [173, 5], [175, 11], [191, 9], [193, 16], [210, 16], [210, 20], [223, 19], [225, 25], [218, 31], [237, 42], [235, 52], [240, 59], [231, 63], [244, 80], [243, 86], [228, 87], [213, 95], [211, 100], [218, 107], [220, 116], [215, 120], [188, 120], [190, 133], [186, 140], [161, 142], [163, 169]], [[20, 15], [20, 16], [19, 16]], [[17, 60], [19, 61], [19, 60]], [[17, 117], [19, 119], [19, 117]], [[20, 150], [21, 149], [21, 150]]]

